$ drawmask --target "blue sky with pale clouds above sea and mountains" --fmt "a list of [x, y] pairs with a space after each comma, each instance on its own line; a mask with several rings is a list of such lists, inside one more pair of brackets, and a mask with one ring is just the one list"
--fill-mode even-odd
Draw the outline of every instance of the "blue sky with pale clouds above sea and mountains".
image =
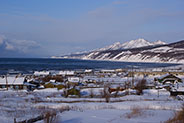
[[184, 0], [0, 0], [0, 57], [50, 57], [138, 38], [184, 39]]

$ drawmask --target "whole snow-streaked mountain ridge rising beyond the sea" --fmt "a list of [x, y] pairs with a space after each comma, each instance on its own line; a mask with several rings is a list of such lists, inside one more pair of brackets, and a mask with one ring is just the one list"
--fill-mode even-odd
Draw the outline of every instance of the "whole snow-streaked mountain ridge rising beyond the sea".
[[163, 41], [149, 42], [144, 39], [113, 45], [90, 52], [70, 54], [53, 58], [76, 58], [112, 60], [125, 62], [184, 63], [184, 40], [166, 44]]

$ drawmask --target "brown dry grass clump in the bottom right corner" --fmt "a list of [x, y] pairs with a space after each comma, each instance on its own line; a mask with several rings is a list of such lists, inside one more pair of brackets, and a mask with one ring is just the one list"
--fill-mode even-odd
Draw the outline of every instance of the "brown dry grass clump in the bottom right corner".
[[182, 105], [181, 111], [175, 112], [174, 116], [165, 123], [184, 123], [184, 104]]

